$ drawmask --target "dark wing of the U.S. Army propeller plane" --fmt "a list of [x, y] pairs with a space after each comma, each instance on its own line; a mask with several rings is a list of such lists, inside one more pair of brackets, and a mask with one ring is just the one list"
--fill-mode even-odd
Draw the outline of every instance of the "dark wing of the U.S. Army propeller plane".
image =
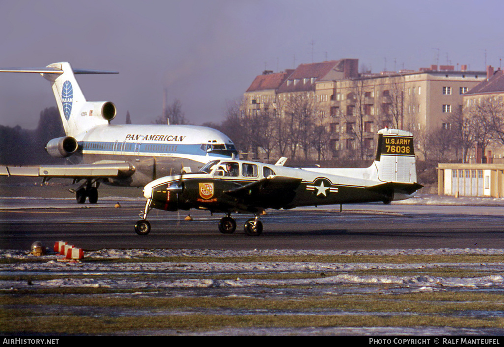
[[224, 191], [224, 194], [238, 198], [247, 205], [280, 208], [292, 201], [300, 183], [301, 179], [270, 176]]

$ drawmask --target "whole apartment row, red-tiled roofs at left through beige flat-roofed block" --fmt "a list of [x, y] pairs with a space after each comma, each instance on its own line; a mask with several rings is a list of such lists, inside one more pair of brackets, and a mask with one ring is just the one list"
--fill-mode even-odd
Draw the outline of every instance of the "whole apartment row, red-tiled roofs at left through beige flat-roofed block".
[[274, 107], [281, 115], [289, 98], [304, 95], [313, 100], [329, 133], [333, 158], [372, 159], [375, 133], [385, 127], [412, 131], [421, 157], [428, 145], [425, 135], [450, 128], [450, 115], [461, 111], [464, 94], [485, 79], [484, 71], [468, 71], [466, 66], [459, 71], [431, 66], [359, 74], [358, 59], [341, 59], [258, 76], [244, 93], [242, 111], [247, 115]]

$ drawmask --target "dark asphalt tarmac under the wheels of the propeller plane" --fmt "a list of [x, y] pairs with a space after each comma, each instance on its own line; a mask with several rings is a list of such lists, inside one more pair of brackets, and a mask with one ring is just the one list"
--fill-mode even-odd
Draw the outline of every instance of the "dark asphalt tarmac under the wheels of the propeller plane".
[[[88, 250], [170, 249], [427, 249], [504, 248], [503, 206], [362, 204], [269, 210], [264, 232], [249, 237], [233, 215], [236, 232], [223, 235], [223, 214], [152, 210], [152, 229], [138, 236], [134, 225], [144, 207], [140, 198], [105, 198], [78, 205], [72, 198], [0, 198], [0, 248], [29, 250], [34, 241], [52, 247], [67, 241]], [[119, 202], [120, 207], [114, 207]]]

